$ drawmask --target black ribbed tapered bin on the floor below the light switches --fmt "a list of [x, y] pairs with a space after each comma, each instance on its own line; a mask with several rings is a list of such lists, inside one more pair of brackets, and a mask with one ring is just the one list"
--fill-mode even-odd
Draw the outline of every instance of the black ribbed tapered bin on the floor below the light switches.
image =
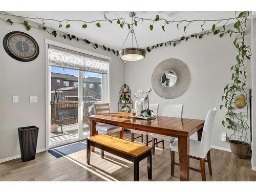
[[36, 126], [18, 128], [20, 154], [23, 162], [35, 159], [38, 130], [39, 128]]

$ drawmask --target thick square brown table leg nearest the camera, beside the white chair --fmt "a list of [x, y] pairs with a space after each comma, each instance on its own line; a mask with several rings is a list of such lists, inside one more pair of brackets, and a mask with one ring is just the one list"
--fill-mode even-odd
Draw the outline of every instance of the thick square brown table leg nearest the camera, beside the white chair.
[[189, 137], [179, 137], [180, 180], [189, 181]]

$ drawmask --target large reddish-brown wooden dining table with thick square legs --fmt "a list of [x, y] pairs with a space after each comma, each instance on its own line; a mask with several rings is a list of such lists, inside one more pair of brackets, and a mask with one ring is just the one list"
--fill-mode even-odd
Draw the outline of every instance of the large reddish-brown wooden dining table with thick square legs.
[[[197, 132], [201, 140], [204, 120], [156, 116], [152, 120], [130, 117], [131, 113], [110, 113], [88, 116], [90, 121], [90, 136], [96, 135], [97, 123], [105, 123], [178, 138], [178, 153], [180, 164], [180, 180], [189, 181], [189, 137]], [[94, 151], [94, 147], [91, 147]], [[153, 162], [154, 163], [154, 162]]]

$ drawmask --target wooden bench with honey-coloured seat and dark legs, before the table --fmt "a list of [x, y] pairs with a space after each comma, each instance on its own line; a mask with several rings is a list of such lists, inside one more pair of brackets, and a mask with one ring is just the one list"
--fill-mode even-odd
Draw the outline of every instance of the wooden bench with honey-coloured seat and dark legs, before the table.
[[152, 147], [109, 135], [95, 135], [87, 138], [87, 164], [90, 164], [91, 146], [132, 161], [134, 181], [139, 181], [139, 162], [147, 157], [147, 177], [152, 180]]

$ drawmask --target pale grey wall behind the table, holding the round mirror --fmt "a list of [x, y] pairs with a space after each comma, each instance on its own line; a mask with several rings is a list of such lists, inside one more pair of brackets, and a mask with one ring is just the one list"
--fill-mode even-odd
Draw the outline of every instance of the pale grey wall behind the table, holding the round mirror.
[[[246, 45], [250, 46], [250, 21], [248, 22]], [[228, 29], [229, 26], [226, 26]], [[132, 94], [137, 90], [152, 88], [151, 76], [155, 67], [163, 60], [177, 58], [182, 60], [190, 71], [190, 83], [187, 90], [178, 98], [164, 99], [154, 91], [150, 95], [151, 103], [159, 103], [159, 112], [165, 103], [184, 104], [183, 117], [205, 119], [209, 109], [217, 108], [212, 131], [211, 144], [229, 150], [229, 143], [221, 140], [222, 132], [232, 133], [222, 124], [225, 110], [220, 111], [224, 86], [230, 82], [230, 67], [236, 63], [237, 49], [233, 46], [234, 37], [224, 35], [203, 36], [199, 39], [182, 41], [176, 47], [161, 47], [147, 53], [145, 59], [125, 64], [125, 83]], [[247, 88], [251, 88], [251, 65], [246, 63]]]

